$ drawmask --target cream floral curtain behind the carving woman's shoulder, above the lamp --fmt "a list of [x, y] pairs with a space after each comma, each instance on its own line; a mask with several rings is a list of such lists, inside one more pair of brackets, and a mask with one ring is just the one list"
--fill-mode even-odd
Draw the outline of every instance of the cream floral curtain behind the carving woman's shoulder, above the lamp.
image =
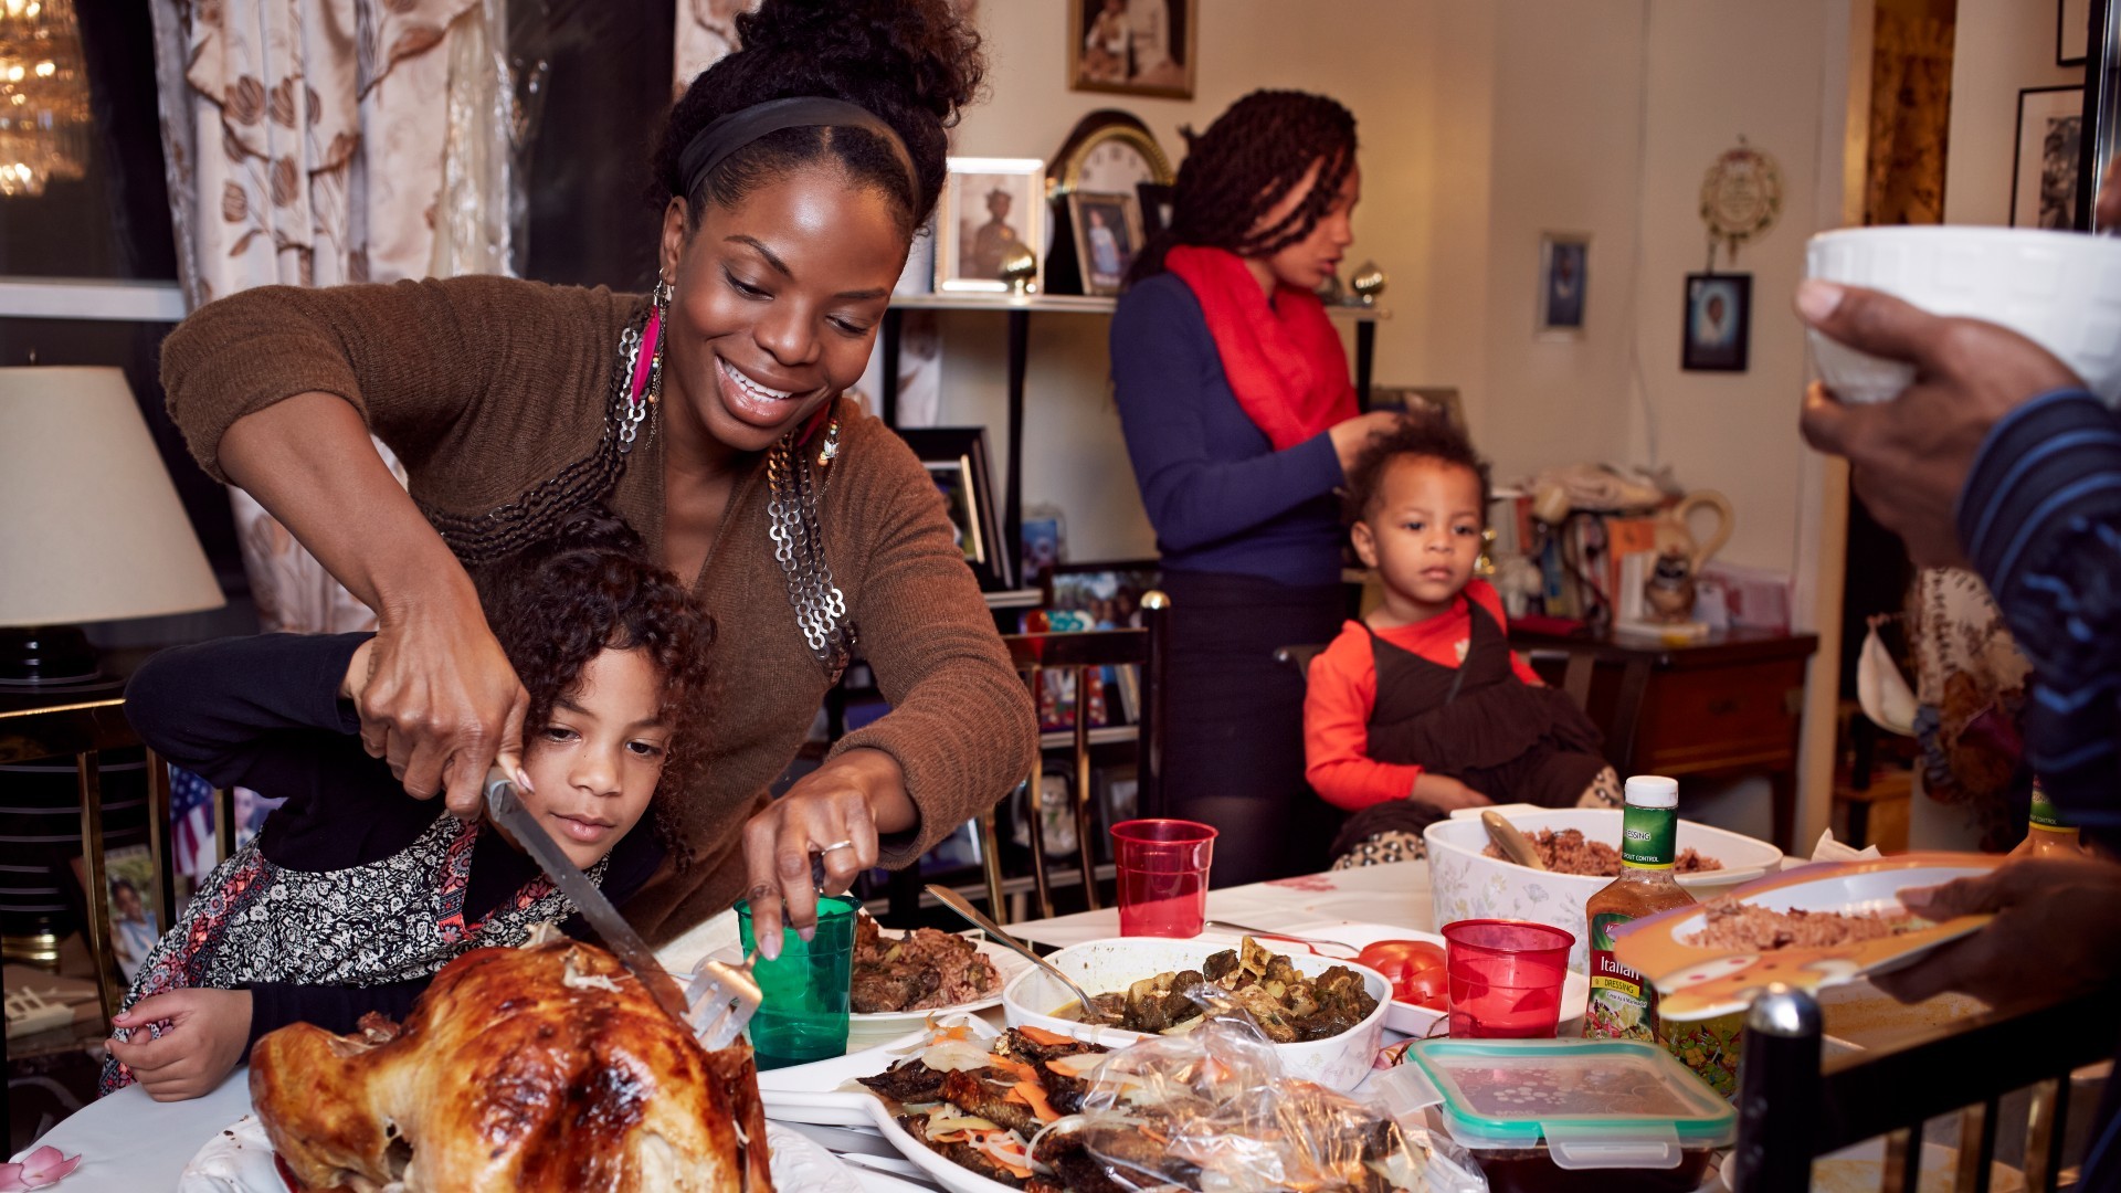
[[[187, 306], [259, 284], [507, 270], [501, 0], [151, 11]], [[229, 492], [263, 628], [375, 624], [257, 501]]]

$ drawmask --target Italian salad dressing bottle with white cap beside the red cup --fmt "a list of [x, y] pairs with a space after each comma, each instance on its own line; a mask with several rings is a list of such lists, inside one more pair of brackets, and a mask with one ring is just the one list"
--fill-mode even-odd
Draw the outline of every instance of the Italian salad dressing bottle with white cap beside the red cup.
[[1657, 987], [1612, 957], [1612, 930], [1631, 919], [1695, 902], [1671, 875], [1678, 855], [1680, 783], [1663, 775], [1627, 779], [1620, 813], [1620, 877], [1589, 902], [1591, 1004], [1584, 1036], [1593, 1040], [1657, 1040]]

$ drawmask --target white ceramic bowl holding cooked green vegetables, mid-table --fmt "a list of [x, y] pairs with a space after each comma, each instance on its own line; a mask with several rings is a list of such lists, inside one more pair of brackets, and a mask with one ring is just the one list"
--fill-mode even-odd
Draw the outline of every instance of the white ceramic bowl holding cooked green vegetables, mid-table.
[[[1347, 966], [1362, 974], [1364, 989], [1377, 1000], [1377, 1010], [1372, 1010], [1368, 1019], [1328, 1040], [1275, 1044], [1275, 1057], [1281, 1061], [1281, 1076], [1315, 1080], [1328, 1089], [1355, 1089], [1355, 1085], [1368, 1076], [1370, 1061], [1377, 1057], [1377, 1049], [1385, 1040], [1385, 1015], [1391, 1008], [1391, 983], [1368, 966], [1317, 957], [1300, 949], [1275, 949], [1275, 943], [1270, 940], [1262, 943], [1275, 953], [1285, 953], [1290, 964], [1294, 964], [1300, 974], [1321, 974], [1332, 966]], [[1086, 991], [1111, 993], [1156, 974], [1198, 970], [1209, 955], [1234, 947], [1237, 940], [1207, 936], [1194, 940], [1171, 940], [1164, 936], [1114, 936], [1109, 940], [1069, 945], [1046, 959], [1067, 976], [1075, 979], [1075, 983]], [[1052, 974], [1035, 966], [1016, 974], [1016, 979], [1001, 987], [1001, 1015], [1007, 1019], [1010, 1027], [1044, 1027], [1048, 1032], [1063, 1032], [1075, 1036], [1077, 1040], [1090, 1040], [1094, 1044], [1109, 1044], [1116, 1049], [1143, 1038], [1139, 1032], [1097, 1027], [1080, 1019], [1054, 1019], [1052, 1013], [1071, 1002], [1075, 1002], [1075, 996], [1069, 993], [1065, 985], [1054, 981]]]

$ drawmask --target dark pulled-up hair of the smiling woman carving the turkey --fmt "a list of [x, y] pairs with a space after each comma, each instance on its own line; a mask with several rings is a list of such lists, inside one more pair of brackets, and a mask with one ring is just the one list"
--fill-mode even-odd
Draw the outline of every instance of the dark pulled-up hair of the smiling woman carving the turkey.
[[[912, 236], [942, 195], [948, 132], [986, 72], [980, 34], [952, 0], [766, 0], [736, 17], [742, 49], [700, 72], [670, 108], [655, 149], [653, 200], [685, 200], [687, 229], [700, 212], [732, 206], [797, 166], [829, 159], [855, 183], [889, 195]], [[679, 157], [717, 117], [797, 96], [846, 100], [874, 113], [906, 142], [906, 168], [884, 138], [859, 127], [789, 127], [723, 159], [685, 193]]]

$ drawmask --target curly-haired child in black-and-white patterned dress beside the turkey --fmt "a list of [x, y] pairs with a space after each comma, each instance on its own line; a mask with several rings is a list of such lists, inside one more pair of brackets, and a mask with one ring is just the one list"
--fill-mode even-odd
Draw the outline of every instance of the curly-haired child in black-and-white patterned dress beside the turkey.
[[[696, 766], [713, 624], [602, 509], [475, 575], [530, 696], [518, 785], [571, 862], [624, 900], [664, 858], [634, 832]], [[373, 758], [354, 698], [375, 635], [261, 635], [170, 650], [125, 690], [142, 741], [214, 785], [286, 802], [146, 955], [112, 1019], [104, 1091], [212, 1091], [259, 1036], [403, 1019], [458, 953], [588, 928], [498, 828], [462, 822]], [[660, 828], [660, 824], [655, 826]]]

